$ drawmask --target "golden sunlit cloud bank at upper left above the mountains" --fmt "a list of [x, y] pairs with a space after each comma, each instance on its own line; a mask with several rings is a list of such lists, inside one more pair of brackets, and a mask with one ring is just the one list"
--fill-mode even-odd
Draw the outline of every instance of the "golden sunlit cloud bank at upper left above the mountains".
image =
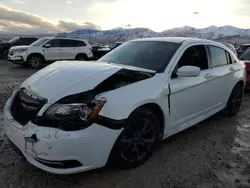
[[[21, 0], [15, 1], [21, 2]], [[61, 20], [53, 23], [46, 18], [0, 5], [0, 32], [57, 33], [77, 29], [100, 29], [100, 27], [90, 22], [75, 23]]]

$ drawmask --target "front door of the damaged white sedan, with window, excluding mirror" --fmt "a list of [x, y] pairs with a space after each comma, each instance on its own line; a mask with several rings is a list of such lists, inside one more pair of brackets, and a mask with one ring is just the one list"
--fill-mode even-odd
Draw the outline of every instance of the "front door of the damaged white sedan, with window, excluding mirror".
[[[176, 70], [182, 66], [200, 67], [197, 77], [181, 77]], [[209, 67], [204, 45], [188, 47], [181, 56], [170, 81], [171, 130], [180, 130], [196, 123], [216, 109], [213, 102], [213, 69]]]

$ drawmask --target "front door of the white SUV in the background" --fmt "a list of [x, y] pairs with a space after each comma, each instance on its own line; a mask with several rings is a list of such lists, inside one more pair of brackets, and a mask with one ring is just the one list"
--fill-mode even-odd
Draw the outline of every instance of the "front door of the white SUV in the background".
[[[49, 48], [44, 46], [49, 44]], [[60, 60], [60, 39], [52, 39], [43, 45], [44, 57], [47, 61]]]

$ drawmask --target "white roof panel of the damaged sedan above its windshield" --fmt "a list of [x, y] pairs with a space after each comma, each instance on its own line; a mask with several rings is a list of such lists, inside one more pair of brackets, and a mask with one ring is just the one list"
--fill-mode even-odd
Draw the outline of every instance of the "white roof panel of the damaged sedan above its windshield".
[[219, 43], [211, 41], [211, 40], [198, 39], [198, 38], [188, 38], [188, 37], [153, 37], [153, 38], [135, 39], [135, 40], [132, 40], [132, 41], [162, 41], [162, 42], [174, 42], [174, 43], [206, 42], [206, 43], [219, 44]]

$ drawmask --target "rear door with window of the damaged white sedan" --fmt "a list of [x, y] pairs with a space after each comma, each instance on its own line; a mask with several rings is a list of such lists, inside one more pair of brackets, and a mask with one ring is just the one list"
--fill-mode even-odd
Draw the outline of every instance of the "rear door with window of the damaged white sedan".
[[214, 72], [214, 100], [219, 105], [226, 105], [228, 97], [234, 87], [233, 74], [240, 68], [233, 63], [228, 51], [217, 46], [208, 46], [210, 64]]

